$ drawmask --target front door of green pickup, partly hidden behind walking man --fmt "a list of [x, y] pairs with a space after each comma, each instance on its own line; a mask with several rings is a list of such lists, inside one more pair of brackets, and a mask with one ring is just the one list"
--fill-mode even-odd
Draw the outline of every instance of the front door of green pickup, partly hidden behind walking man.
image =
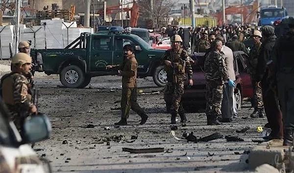
[[125, 45], [131, 45], [134, 49], [134, 53], [138, 62], [138, 72], [146, 72], [147, 64], [144, 59], [144, 48], [141, 47], [141, 50], [135, 50], [135, 46], [140, 46], [133, 38], [128, 37], [127, 35], [116, 35], [114, 37], [114, 53], [113, 53], [113, 64], [122, 64], [123, 63], [123, 47]]

